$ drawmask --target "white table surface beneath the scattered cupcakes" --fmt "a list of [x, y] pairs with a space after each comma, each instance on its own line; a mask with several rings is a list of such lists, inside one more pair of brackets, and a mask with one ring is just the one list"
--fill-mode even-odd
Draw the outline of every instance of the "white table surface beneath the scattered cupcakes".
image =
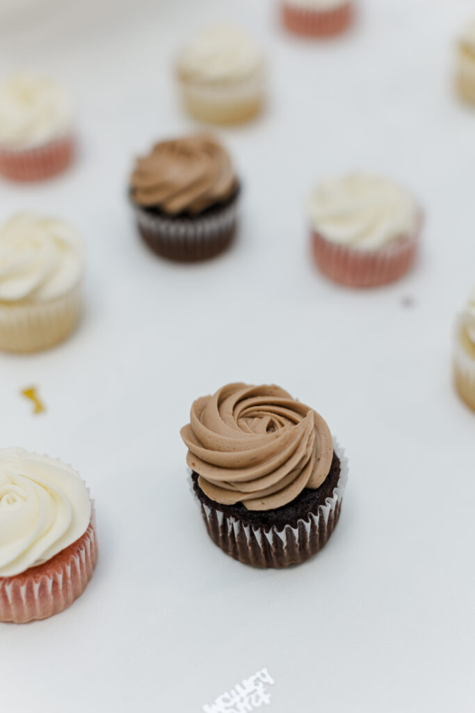
[[[451, 91], [473, 4], [366, 0], [355, 30], [323, 44], [283, 34], [269, 1], [91, 5], [50, 0], [31, 28], [0, 29], [2, 69], [63, 80], [82, 140], [67, 175], [1, 183], [0, 218], [58, 215], [88, 245], [75, 336], [0, 356], [0, 445], [73, 463], [100, 540], [69, 610], [0, 625], [2, 712], [199, 712], [261, 667], [272, 713], [473, 711], [475, 416], [450, 379], [475, 279], [475, 112]], [[174, 265], [140, 243], [127, 175], [154, 140], [195, 128], [170, 65], [215, 19], [262, 44], [271, 99], [219, 132], [244, 181], [235, 247]], [[370, 292], [320, 277], [303, 219], [316, 180], [355, 168], [402, 180], [427, 215], [412, 274]], [[179, 428], [194, 398], [234, 380], [314, 406], [350, 458], [338, 528], [298, 568], [226, 557], [190, 496]], [[31, 384], [42, 416], [19, 395]]]

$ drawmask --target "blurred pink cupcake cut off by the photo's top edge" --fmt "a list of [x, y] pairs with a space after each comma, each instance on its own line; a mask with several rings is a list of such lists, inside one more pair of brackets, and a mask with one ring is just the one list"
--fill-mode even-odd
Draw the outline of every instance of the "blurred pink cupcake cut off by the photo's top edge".
[[305, 37], [332, 37], [353, 21], [353, 0], [283, 0], [286, 29]]

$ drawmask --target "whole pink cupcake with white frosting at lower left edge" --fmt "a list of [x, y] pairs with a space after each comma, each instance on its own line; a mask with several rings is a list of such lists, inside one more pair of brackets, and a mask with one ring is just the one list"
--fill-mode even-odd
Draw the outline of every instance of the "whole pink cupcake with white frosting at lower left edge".
[[62, 612], [85, 590], [97, 555], [78, 473], [22, 448], [0, 450], [0, 621]]

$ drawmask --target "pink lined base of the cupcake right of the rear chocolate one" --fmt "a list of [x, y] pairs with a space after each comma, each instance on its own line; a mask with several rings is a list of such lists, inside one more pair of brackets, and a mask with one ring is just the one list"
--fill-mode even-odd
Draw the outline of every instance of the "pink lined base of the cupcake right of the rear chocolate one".
[[357, 250], [313, 232], [313, 255], [320, 270], [335, 282], [348, 287], [378, 287], [394, 282], [409, 270], [417, 254], [418, 237], [416, 232], [380, 250]]

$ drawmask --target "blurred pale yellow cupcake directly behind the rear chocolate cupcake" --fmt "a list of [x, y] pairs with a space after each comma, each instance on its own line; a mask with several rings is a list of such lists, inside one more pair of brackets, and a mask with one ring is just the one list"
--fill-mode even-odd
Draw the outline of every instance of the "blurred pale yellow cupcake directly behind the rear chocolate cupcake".
[[199, 121], [234, 124], [261, 111], [264, 63], [261, 51], [239, 29], [208, 29], [179, 56], [177, 76], [184, 105]]

